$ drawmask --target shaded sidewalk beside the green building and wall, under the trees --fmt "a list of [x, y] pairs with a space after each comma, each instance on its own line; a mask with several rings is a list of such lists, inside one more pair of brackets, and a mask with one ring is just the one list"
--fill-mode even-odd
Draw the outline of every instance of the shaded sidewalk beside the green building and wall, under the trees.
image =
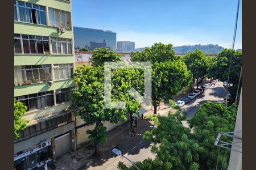
[[[157, 114], [167, 116], [168, 112], [174, 111], [168, 104], [161, 104], [160, 110]], [[108, 132], [108, 141], [100, 144], [101, 157], [98, 159], [92, 158], [94, 152], [94, 146], [92, 143], [88, 143], [85, 146], [79, 148], [76, 151], [69, 151], [67, 154], [62, 155], [56, 162], [48, 165], [49, 170], [59, 169], [71, 169], [82, 170], [92, 165], [93, 169], [97, 169], [97, 165], [104, 163], [109, 158], [113, 157], [112, 149], [119, 148], [125, 153], [129, 148], [142, 139], [142, 136], [146, 130], [154, 128], [154, 124], [147, 119], [147, 116], [154, 114], [154, 111], [148, 111], [144, 113], [144, 119], [137, 121], [137, 128], [135, 134], [129, 133], [129, 121], [117, 126], [113, 130]], [[130, 138], [129, 138], [130, 135]]]

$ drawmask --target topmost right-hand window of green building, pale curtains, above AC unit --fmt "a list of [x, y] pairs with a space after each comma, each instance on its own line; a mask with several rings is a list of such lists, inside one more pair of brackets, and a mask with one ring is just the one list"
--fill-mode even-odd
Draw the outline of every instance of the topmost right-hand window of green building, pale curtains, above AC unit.
[[67, 27], [71, 28], [70, 12], [48, 8], [49, 10], [49, 25], [52, 27]]

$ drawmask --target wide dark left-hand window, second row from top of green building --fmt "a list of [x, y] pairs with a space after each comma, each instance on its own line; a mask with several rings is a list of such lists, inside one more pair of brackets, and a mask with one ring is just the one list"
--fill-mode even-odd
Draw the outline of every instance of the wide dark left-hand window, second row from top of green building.
[[14, 34], [15, 54], [49, 54], [49, 42], [46, 36]]

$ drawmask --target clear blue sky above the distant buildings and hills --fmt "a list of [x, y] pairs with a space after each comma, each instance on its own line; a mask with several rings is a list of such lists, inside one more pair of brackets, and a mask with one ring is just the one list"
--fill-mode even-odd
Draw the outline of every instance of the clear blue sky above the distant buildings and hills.
[[[241, 2], [235, 49], [242, 48]], [[237, 0], [73, 0], [73, 25], [111, 30], [135, 48], [218, 44], [230, 48]]]

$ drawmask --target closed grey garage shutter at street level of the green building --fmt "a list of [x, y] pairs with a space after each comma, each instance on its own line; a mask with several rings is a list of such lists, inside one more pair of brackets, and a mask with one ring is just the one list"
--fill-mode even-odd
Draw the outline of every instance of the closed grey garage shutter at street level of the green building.
[[55, 153], [57, 158], [71, 150], [70, 141], [69, 133], [55, 138]]

